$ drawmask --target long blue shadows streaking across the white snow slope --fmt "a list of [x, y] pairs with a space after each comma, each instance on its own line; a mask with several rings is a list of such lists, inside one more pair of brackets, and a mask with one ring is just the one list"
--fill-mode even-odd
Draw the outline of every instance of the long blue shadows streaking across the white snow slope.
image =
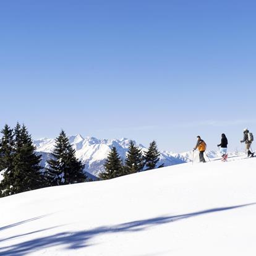
[[[187, 213], [183, 215], [176, 215], [176, 216], [163, 216], [158, 218], [151, 218], [147, 220], [140, 220], [140, 221], [132, 221], [129, 223], [122, 223], [115, 226], [103, 226], [95, 229], [90, 229], [86, 231], [76, 231], [76, 232], [63, 232], [54, 234], [52, 236], [45, 236], [36, 239], [32, 239], [30, 241], [21, 242], [19, 244], [9, 245], [6, 247], [0, 247], [0, 255], [4, 256], [22, 256], [29, 254], [30, 252], [35, 252], [36, 250], [46, 249], [48, 247], [53, 247], [56, 245], [64, 245], [66, 249], [79, 249], [82, 247], [90, 246], [89, 240], [95, 236], [100, 234], [108, 234], [108, 233], [125, 233], [125, 232], [138, 232], [143, 231], [147, 228], [152, 226], [170, 223], [174, 221], [179, 221], [182, 219], [187, 219], [195, 216], [205, 215], [208, 213], [214, 213], [218, 211], [226, 211], [232, 210], [235, 208], [247, 207], [249, 205], [255, 205], [256, 203], [249, 203], [245, 205], [236, 205], [233, 207], [223, 207], [223, 208], [212, 208], [203, 211], [197, 211], [194, 213]], [[42, 218], [42, 217], [38, 217]], [[26, 220], [20, 223], [15, 223], [9, 226], [17, 226], [18, 224], [26, 223], [28, 221], [36, 220], [37, 218]], [[9, 226], [3, 227], [1, 229], [7, 228]], [[0, 230], [1, 230], [0, 229]], [[49, 228], [51, 229], [51, 228]], [[46, 229], [41, 229], [38, 231], [34, 231], [32, 233], [39, 233], [45, 231]], [[8, 239], [12, 239], [14, 237], [22, 237], [27, 236], [28, 234], [20, 234], [17, 236], [9, 237], [7, 239], [3, 239], [2, 241], [6, 241]]]

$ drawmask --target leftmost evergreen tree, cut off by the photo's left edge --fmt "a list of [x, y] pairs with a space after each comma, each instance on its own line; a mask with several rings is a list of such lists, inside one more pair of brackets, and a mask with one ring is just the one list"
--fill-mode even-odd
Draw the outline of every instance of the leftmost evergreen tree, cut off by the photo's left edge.
[[2, 171], [3, 179], [0, 182], [0, 197], [4, 197], [8, 195], [10, 186], [13, 183], [14, 134], [7, 124], [1, 130], [1, 134], [0, 171]]

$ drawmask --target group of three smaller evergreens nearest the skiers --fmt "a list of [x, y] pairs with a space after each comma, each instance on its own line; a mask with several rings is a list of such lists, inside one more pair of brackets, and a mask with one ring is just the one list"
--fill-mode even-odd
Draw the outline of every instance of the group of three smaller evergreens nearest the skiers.
[[[105, 172], [100, 173], [100, 179], [113, 179], [127, 174], [155, 169], [160, 160], [159, 156], [160, 152], [158, 151], [155, 140], [150, 143], [148, 151], [144, 154], [131, 140], [124, 163], [122, 162], [116, 147], [113, 147], [104, 164]], [[158, 168], [160, 167], [163, 167], [163, 164], [158, 166]]]

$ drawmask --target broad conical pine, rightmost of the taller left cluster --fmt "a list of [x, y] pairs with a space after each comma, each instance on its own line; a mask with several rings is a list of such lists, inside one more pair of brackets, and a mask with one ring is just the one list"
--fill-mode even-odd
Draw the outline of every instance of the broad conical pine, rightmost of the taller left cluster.
[[75, 149], [70, 145], [64, 130], [61, 130], [59, 137], [56, 138], [51, 156], [46, 171], [51, 186], [86, 181], [87, 177], [83, 174], [84, 165], [75, 158]]

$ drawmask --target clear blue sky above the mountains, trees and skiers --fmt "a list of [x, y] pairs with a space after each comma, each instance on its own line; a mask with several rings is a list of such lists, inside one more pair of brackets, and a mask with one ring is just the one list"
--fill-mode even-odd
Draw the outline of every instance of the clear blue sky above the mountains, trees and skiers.
[[256, 135], [256, 2], [1, 1], [0, 126], [186, 151]]

